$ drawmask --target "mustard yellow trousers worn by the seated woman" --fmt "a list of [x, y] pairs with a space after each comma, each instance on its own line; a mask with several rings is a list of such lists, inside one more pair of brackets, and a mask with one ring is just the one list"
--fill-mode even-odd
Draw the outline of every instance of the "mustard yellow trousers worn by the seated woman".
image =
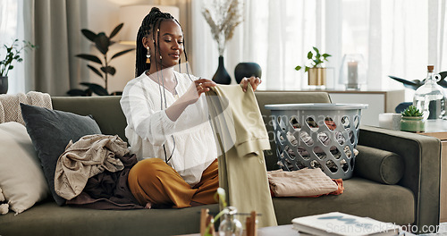
[[164, 205], [183, 208], [201, 204], [214, 204], [219, 187], [217, 159], [202, 173], [202, 178], [190, 187], [173, 167], [159, 158], [139, 161], [131, 168], [129, 188], [139, 204]]

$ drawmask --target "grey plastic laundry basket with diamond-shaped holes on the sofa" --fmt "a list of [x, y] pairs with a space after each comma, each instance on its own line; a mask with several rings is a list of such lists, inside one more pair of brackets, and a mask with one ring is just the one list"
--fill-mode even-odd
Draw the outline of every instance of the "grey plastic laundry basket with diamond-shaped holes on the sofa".
[[266, 105], [271, 110], [276, 154], [285, 171], [321, 168], [332, 179], [354, 171], [363, 104]]

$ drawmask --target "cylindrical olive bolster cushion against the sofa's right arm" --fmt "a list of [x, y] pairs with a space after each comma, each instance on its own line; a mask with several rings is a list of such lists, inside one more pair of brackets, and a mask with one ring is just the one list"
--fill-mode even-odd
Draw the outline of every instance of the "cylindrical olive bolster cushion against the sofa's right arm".
[[374, 147], [357, 146], [354, 173], [371, 181], [396, 184], [401, 180], [405, 164], [401, 156]]

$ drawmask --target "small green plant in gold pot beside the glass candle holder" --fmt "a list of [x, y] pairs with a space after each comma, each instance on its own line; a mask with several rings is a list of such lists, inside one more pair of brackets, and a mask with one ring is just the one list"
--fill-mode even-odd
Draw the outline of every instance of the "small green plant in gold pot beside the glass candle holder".
[[[323, 63], [327, 60], [328, 54], [320, 54], [320, 51], [316, 46], [312, 47], [314, 52], [310, 50], [308, 52], [308, 64], [305, 64], [304, 72], [308, 72], [308, 85], [316, 86], [316, 88], [323, 88], [326, 85], [326, 68], [323, 67]], [[295, 70], [301, 70], [301, 66], [297, 65]]]

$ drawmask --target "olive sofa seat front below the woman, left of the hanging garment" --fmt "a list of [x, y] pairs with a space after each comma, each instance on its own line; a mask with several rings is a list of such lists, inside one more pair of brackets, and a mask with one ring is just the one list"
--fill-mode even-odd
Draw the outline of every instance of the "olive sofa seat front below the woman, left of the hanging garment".
[[[96, 210], [46, 202], [21, 215], [0, 215], [6, 235], [180, 235], [200, 231], [200, 211], [219, 212], [218, 204], [181, 209]], [[220, 221], [216, 221], [218, 227]], [[23, 227], [26, 225], [26, 227]]]

